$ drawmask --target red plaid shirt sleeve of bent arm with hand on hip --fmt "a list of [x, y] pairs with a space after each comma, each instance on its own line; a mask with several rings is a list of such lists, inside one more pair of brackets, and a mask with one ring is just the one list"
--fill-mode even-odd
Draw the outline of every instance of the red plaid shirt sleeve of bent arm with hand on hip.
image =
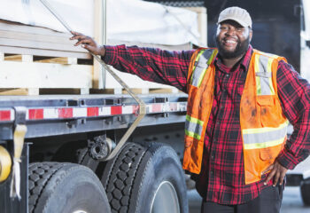
[[310, 153], [310, 84], [283, 60], [279, 62], [276, 78], [283, 114], [294, 127], [277, 160], [292, 170]]

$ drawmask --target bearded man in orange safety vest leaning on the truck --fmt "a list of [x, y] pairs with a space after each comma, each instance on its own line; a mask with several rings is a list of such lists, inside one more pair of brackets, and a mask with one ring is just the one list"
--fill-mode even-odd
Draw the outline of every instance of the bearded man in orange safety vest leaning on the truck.
[[78, 33], [71, 39], [120, 71], [189, 94], [183, 169], [196, 179], [202, 212], [279, 212], [286, 171], [309, 155], [310, 85], [283, 57], [252, 49], [248, 12], [221, 12], [217, 49], [98, 46]]

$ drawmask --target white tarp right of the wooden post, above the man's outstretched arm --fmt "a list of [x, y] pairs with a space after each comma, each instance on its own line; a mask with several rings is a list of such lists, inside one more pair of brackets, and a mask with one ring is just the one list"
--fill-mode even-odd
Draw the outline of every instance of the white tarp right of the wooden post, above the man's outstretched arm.
[[189, 32], [199, 36], [196, 12], [175, 7], [167, 7], [167, 12], [161, 4], [140, 0], [108, 0], [107, 3], [109, 39], [168, 45], [198, 44]]

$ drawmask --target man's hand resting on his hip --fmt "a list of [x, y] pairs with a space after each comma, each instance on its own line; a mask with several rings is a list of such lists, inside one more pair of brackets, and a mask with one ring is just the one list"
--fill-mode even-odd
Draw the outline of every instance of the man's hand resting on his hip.
[[262, 174], [267, 173], [267, 171], [269, 170], [270, 173], [268, 174], [264, 182], [264, 185], [267, 185], [267, 183], [271, 180], [271, 178], [274, 178], [273, 186], [277, 185], [278, 182], [280, 183], [280, 185], [282, 185], [283, 179], [288, 169], [283, 167], [283, 165], [281, 165], [279, 162], [275, 160], [275, 162], [271, 164], [266, 170], [264, 170]]

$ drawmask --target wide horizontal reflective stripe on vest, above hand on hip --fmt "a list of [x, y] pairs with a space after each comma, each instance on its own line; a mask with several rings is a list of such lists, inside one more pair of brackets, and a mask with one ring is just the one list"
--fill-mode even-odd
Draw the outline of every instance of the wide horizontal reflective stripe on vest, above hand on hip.
[[260, 129], [242, 130], [244, 149], [267, 148], [283, 144], [287, 134], [288, 122], [278, 128], [265, 127]]

